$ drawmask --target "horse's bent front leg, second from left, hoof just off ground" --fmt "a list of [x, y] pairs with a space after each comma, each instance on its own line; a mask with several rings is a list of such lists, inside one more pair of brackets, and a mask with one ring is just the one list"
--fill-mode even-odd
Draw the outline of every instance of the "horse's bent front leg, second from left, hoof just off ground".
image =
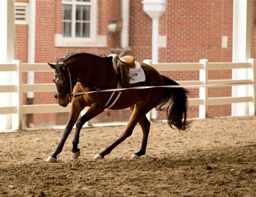
[[100, 107], [99, 105], [95, 104], [92, 105], [86, 112], [85, 114], [80, 117], [76, 123], [76, 132], [75, 136], [73, 138], [73, 148], [72, 148], [72, 153], [73, 153], [73, 159], [77, 159], [80, 156], [80, 149], [78, 149], [78, 143], [79, 143], [79, 135], [80, 135], [80, 130], [82, 129], [83, 125], [87, 122], [90, 121], [93, 117], [99, 115], [104, 111], [105, 106]]

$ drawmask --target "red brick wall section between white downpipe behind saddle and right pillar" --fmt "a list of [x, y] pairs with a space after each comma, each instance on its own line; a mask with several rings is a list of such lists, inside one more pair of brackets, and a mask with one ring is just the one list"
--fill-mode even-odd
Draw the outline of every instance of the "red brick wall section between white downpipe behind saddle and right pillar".
[[[142, 4], [131, 2], [131, 47], [137, 59], [151, 58], [151, 19]], [[139, 20], [137, 20], [139, 18]], [[233, 0], [229, 1], [167, 1], [160, 19], [160, 35], [167, 37], [167, 47], [159, 48], [159, 62], [198, 62], [199, 59], [232, 61]], [[221, 36], [228, 36], [228, 48], [221, 48]], [[163, 73], [173, 80], [199, 80], [198, 72]], [[231, 71], [210, 71], [210, 79], [231, 79]], [[210, 88], [209, 96], [231, 96], [231, 88]], [[198, 97], [198, 90], [190, 91]], [[196, 108], [196, 109], [195, 109]], [[231, 105], [210, 106], [209, 116], [230, 115]], [[198, 116], [198, 107], [188, 110]], [[165, 118], [165, 117], [164, 117]]]

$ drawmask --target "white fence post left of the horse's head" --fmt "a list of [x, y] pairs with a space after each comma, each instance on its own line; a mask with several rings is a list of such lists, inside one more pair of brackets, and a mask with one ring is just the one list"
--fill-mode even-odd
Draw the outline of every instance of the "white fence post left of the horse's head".
[[12, 104], [16, 106], [17, 112], [12, 115], [12, 130], [22, 130], [22, 71], [21, 61], [14, 60], [16, 72], [12, 74], [12, 81], [16, 85], [16, 92], [12, 93]]

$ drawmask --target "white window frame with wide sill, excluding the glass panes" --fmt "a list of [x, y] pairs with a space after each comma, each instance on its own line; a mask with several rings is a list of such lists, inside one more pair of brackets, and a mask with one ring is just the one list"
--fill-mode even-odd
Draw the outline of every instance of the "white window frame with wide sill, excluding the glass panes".
[[[76, 0], [62, 1], [62, 5], [72, 5], [71, 37], [63, 37], [62, 34], [55, 34], [56, 47], [105, 47], [106, 46], [106, 36], [97, 35], [98, 0], [91, 0], [90, 2], [77, 2]], [[76, 37], [76, 6], [75, 5], [91, 6], [90, 37], [88, 38]]]

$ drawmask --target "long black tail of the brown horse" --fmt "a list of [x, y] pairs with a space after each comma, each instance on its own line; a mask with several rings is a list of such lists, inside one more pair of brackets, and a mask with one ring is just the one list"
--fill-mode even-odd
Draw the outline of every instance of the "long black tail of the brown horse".
[[[179, 85], [177, 82], [162, 75], [165, 86]], [[184, 88], [165, 88], [165, 97], [156, 107], [159, 111], [166, 110], [167, 122], [172, 129], [187, 131], [190, 122], [187, 121], [187, 94]]]

